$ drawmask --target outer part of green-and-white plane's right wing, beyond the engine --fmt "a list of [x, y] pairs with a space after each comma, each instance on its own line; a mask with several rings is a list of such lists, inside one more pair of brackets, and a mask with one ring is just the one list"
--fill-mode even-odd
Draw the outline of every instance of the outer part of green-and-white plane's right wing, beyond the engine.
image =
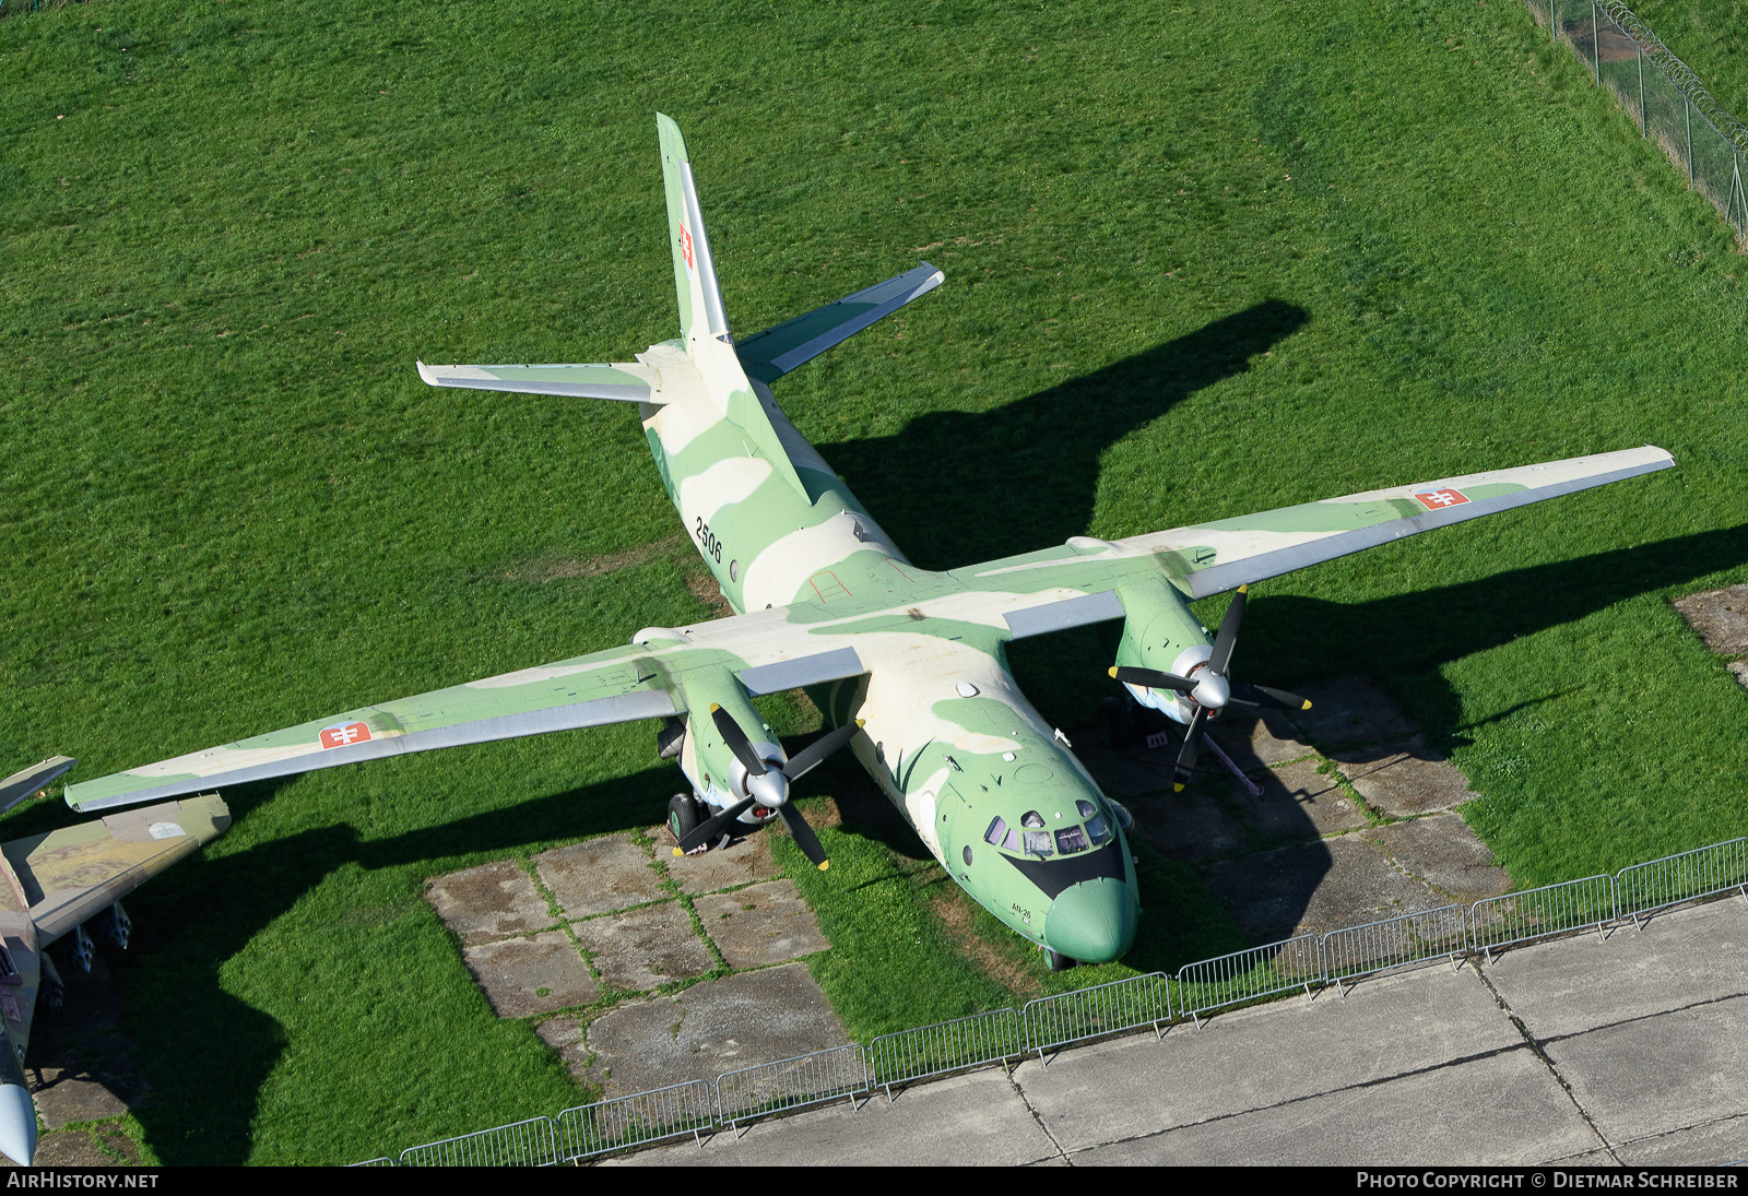
[[[1370, 490], [1141, 535], [1122, 544], [1185, 558], [1190, 596], [1206, 598], [1377, 544], [1673, 465], [1669, 453], [1647, 444], [1620, 453]], [[1213, 551], [1187, 554], [1183, 549], [1190, 546]]]

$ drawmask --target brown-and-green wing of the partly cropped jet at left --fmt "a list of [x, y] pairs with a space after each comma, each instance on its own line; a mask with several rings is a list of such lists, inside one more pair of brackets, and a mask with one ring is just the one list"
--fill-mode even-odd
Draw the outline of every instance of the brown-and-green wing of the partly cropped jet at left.
[[129, 810], [0, 845], [42, 946], [121, 900], [231, 825], [217, 794]]

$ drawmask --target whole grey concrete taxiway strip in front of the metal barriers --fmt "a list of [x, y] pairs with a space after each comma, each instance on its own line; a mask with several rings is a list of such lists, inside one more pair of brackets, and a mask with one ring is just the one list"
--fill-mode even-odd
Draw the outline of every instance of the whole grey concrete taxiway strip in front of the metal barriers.
[[1741, 897], [1070, 1047], [608, 1165], [1748, 1158]]

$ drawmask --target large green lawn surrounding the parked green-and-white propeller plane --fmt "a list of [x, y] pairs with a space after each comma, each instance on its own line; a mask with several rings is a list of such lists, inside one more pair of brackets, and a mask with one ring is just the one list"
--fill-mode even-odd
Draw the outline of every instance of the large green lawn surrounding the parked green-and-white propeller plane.
[[[1267, 582], [1236, 668], [1381, 677], [1521, 885], [1745, 832], [1748, 699], [1668, 600], [1748, 581], [1748, 262], [1514, 2], [93, 0], [0, 19], [0, 87], [7, 769], [94, 778], [708, 615], [629, 409], [413, 371], [673, 334], [662, 110], [738, 330], [946, 269], [776, 386], [925, 567], [1673, 451]], [[1105, 664], [1016, 652], [1065, 727]], [[143, 1149], [343, 1163], [575, 1103], [421, 885], [649, 827], [676, 785], [631, 726], [227, 794], [115, 962]], [[855, 1033], [1012, 1000], [919, 845], [827, 846], [855, 888], [795, 873]], [[1143, 900], [1131, 960], [1068, 979], [968, 934], [1033, 984], [1231, 949], [1194, 873], [1148, 860]]]

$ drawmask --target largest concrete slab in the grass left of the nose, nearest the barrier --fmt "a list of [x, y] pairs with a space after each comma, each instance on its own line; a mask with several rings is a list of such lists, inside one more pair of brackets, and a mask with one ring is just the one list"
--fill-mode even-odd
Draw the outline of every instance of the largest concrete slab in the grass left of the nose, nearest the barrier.
[[621, 1005], [589, 1026], [591, 1082], [607, 1096], [844, 1046], [850, 1035], [802, 963], [701, 981]]

